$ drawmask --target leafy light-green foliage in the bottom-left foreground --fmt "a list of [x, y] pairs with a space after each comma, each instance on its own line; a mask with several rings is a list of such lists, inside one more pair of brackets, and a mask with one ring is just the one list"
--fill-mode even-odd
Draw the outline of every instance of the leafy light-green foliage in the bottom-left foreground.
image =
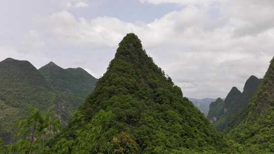
[[60, 128], [61, 122], [50, 114], [42, 115], [38, 108], [30, 108], [27, 112], [27, 119], [18, 121], [20, 138], [16, 143], [4, 145], [3, 153], [48, 153], [49, 140], [55, 136]]

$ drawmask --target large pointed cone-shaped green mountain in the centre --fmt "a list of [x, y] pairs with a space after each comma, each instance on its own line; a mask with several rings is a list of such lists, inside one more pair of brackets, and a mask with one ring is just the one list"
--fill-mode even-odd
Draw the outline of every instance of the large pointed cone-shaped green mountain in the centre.
[[71, 139], [67, 153], [73, 153], [82, 145], [83, 132], [98, 123], [95, 115], [101, 110], [111, 111], [111, 120], [88, 140], [88, 153], [107, 153], [116, 144], [135, 149], [125, 153], [165, 153], [180, 148], [222, 151], [226, 147], [210, 122], [154, 64], [133, 33], [120, 42], [107, 72], [51, 144], [61, 148]]

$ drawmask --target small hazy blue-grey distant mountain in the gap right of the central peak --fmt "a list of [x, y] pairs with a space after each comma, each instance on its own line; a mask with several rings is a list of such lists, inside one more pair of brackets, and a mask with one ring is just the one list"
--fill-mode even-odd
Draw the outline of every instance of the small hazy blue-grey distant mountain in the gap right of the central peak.
[[188, 98], [207, 117], [210, 103], [216, 101], [214, 98]]

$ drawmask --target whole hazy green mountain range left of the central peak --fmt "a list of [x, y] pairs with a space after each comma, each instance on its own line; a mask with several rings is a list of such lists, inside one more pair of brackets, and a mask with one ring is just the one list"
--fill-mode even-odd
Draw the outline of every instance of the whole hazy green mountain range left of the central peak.
[[29, 107], [54, 111], [66, 124], [95, 87], [97, 79], [82, 68], [63, 69], [53, 62], [39, 70], [28, 61], [0, 62], [0, 138], [11, 142], [15, 124]]

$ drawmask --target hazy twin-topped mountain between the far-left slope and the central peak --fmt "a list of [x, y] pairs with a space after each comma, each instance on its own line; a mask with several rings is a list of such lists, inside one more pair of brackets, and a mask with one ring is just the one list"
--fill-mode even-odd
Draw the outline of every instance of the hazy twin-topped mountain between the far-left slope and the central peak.
[[50, 62], [39, 69], [52, 89], [68, 104], [71, 110], [83, 104], [86, 96], [94, 90], [97, 79], [82, 68], [63, 69]]

